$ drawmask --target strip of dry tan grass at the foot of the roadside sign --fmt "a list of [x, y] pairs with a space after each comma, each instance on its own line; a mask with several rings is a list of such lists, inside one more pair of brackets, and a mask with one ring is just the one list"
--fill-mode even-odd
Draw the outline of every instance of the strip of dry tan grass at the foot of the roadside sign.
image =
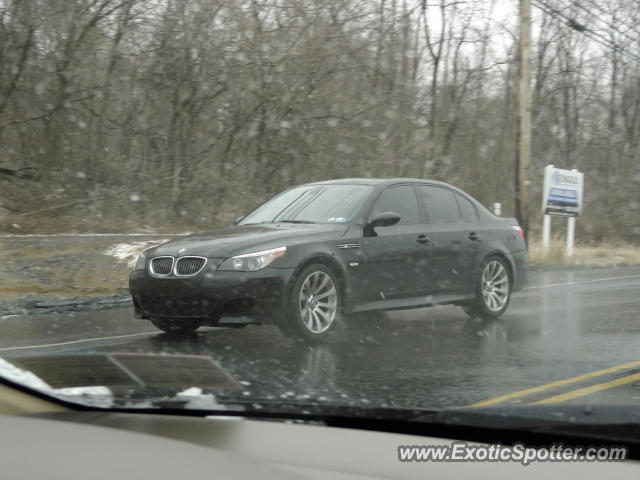
[[640, 247], [614, 243], [576, 245], [572, 257], [566, 256], [563, 240], [553, 240], [544, 252], [542, 244], [529, 245], [531, 267], [613, 267], [640, 265]]

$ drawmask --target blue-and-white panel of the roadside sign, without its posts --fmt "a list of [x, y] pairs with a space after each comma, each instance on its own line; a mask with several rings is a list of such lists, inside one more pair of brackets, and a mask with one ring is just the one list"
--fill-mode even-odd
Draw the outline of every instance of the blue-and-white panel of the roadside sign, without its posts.
[[577, 170], [562, 170], [553, 165], [544, 169], [542, 213], [577, 217], [582, 213], [584, 174]]

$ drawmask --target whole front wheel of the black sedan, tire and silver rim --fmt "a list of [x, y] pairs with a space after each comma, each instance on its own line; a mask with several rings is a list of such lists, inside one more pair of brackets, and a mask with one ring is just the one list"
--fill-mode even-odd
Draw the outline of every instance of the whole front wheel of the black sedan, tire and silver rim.
[[278, 327], [287, 336], [323, 342], [337, 323], [340, 300], [335, 273], [320, 263], [309, 265], [296, 277]]

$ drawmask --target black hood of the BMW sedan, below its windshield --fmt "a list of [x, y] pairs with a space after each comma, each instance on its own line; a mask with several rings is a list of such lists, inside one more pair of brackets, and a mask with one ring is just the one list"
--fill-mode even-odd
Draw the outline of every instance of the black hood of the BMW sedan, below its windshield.
[[147, 256], [161, 255], [230, 257], [241, 253], [291, 246], [313, 239], [339, 238], [345, 234], [345, 224], [265, 223], [237, 225], [210, 232], [197, 233], [147, 250]]

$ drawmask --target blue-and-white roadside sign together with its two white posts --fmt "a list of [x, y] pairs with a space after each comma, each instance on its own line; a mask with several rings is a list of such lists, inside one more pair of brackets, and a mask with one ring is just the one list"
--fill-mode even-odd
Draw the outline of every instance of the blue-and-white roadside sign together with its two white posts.
[[549, 249], [551, 215], [567, 217], [567, 256], [573, 255], [576, 217], [582, 213], [584, 174], [577, 170], [563, 170], [553, 165], [544, 169], [542, 189], [542, 248]]

